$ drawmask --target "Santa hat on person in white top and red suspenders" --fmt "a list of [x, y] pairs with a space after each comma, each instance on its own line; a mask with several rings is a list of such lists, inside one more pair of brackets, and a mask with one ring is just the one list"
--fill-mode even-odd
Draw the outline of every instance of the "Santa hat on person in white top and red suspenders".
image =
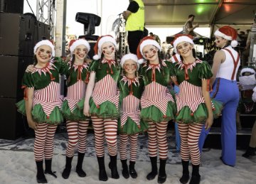
[[214, 35], [225, 38], [226, 40], [230, 40], [233, 48], [238, 45], [238, 41], [236, 40], [238, 38], [238, 33], [230, 26], [223, 26], [219, 28], [217, 31], [215, 31]]

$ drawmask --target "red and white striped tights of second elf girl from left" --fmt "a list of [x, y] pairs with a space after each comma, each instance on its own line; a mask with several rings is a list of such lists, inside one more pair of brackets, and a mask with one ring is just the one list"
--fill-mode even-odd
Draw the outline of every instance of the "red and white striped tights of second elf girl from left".
[[73, 157], [76, 146], [78, 146], [79, 153], [85, 153], [88, 125], [89, 121], [67, 121], [68, 148], [66, 156]]

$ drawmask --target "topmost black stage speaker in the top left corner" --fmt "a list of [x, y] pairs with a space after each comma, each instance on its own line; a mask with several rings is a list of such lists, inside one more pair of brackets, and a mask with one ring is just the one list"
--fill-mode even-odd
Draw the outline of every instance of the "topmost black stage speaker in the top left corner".
[[23, 0], [0, 0], [0, 12], [23, 13]]

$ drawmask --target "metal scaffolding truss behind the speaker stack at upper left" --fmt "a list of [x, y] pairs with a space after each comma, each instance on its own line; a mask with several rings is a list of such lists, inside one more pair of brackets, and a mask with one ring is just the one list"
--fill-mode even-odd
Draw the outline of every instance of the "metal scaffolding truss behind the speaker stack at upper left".
[[55, 36], [55, 0], [36, 0], [36, 18], [50, 26], [50, 39]]

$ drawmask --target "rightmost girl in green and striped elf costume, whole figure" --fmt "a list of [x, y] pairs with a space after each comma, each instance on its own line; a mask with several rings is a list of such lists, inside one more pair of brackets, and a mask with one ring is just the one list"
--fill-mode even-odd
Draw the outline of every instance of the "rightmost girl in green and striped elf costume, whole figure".
[[[213, 73], [208, 63], [198, 60], [193, 52], [193, 40], [189, 35], [178, 34], [174, 38], [174, 50], [181, 60], [171, 67], [172, 80], [179, 86], [176, 94], [178, 131], [181, 136], [181, 159], [183, 175], [181, 183], [189, 180], [188, 162], [191, 159], [193, 171], [191, 184], [200, 183], [199, 165], [201, 154], [198, 139], [205, 122], [206, 129], [213, 124], [214, 115], [220, 115], [221, 104], [210, 100], [210, 77]], [[214, 106], [212, 105], [214, 104]]]

